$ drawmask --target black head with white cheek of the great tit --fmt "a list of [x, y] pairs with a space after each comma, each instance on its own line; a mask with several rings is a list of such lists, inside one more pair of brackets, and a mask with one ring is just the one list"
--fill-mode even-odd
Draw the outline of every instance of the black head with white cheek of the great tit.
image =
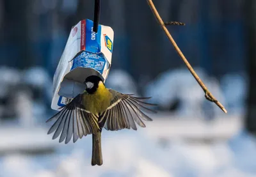
[[95, 91], [97, 91], [97, 89], [99, 88], [99, 83], [102, 82], [102, 79], [100, 79], [100, 77], [96, 76], [96, 75], [90, 75], [89, 77], [87, 77], [84, 81], [84, 84], [86, 86], [86, 91], [89, 94], [93, 94], [95, 93]]

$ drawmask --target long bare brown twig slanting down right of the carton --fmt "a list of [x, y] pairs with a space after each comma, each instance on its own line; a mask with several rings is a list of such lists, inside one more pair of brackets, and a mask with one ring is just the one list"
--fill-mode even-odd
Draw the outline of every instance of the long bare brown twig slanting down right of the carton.
[[198, 77], [198, 75], [196, 74], [195, 70], [193, 70], [192, 66], [189, 64], [188, 60], [185, 58], [184, 54], [182, 54], [181, 50], [179, 49], [177, 43], [173, 40], [172, 35], [170, 34], [170, 32], [168, 31], [168, 29], [166, 28], [161, 16], [159, 15], [159, 13], [156, 10], [156, 6], [154, 5], [154, 3], [152, 2], [152, 0], [147, 0], [148, 1], [148, 5], [150, 6], [152, 12], [154, 13], [157, 21], [159, 22], [160, 26], [162, 27], [162, 29], [164, 30], [164, 33], [166, 34], [166, 36], [169, 38], [170, 42], [172, 42], [173, 47], [175, 48], [175, 50], [178, 52], [180, 58], [184, 61], [184, 63], [186, 64], [186, 66], [188, 67], [189, 72], [191, 72], [191, 74], [193, 75], [193, 77], [195, 77], [196, 81], [198, 82], [198, 84], [201, 86], [201, 88], [204, 90], [205, 93], [205, 98], [211, 102], [214, 102], [216, 105], [218, 105], [218, 107], [220, 107], [220, 109], [227, 113], [227, 110], [225, 109], [225, 107], [218, 102], [218, 100], [216, 100], [216, 98], [214, 98], [214, 96], [211, 94], [211, 92], [207, 89], [207, 87], [205, 86], [204, 82], [201, 81], [200, 77]]

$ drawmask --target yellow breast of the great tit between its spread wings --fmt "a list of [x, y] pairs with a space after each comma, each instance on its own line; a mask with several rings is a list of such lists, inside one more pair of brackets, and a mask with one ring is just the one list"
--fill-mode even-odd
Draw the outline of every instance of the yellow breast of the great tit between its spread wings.
[[102, 82], [99, 82], [99, 87], [95, 93], [83, 95], [84, 108], [97, 116], [106, 111], [110, 102], [111, 93]]

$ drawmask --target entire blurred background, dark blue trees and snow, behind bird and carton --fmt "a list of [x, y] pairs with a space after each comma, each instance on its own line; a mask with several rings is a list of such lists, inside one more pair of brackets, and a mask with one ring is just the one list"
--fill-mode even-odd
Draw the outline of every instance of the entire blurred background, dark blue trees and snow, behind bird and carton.
[[256, 176], [256, 2], [154, 1], [173, 38], [224, 114], [204, 98], [147, 1], [102, 1], [100, 24], [115, 31], [106, 85], [152, 96], [147, 128], [103, 131], [104, 164], [92, 139], [47, 135], [52, 78], [71, 27], [93, 19], [94, 1], [0, 0], [0, 176]]

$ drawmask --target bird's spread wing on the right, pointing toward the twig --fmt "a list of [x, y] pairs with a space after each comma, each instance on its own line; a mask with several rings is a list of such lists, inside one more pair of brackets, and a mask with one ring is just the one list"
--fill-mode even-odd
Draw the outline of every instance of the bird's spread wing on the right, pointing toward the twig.
[[[119, 93], [113, 89], [109, 89], [113, 95], [111, 105], [108, 109], [100, 115], [99, 126], [106, 128], [106, 130], [121, 130], [124, 128], [132, 128], [137, 130], [135, 122], [140, 127], [146, 127], [142, 119], [145, 121], [152, 121], [143, 111], [156, 112], [148, 109], [146, 106], [156, 105], [143, 102], [149, 98], [138, 98], [132, 95]], [[134, 122], [135, 121], [135, 122]]]

